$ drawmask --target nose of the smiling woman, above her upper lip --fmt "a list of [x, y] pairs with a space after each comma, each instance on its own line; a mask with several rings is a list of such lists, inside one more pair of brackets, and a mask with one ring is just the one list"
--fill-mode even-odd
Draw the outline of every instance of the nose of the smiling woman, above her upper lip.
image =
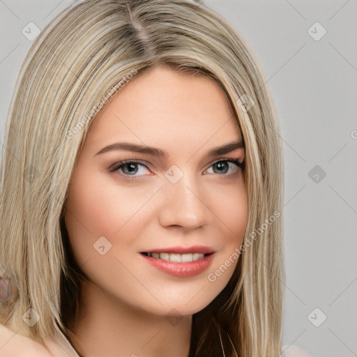
[[188, 175], [176, 183], [166, 182], [162, 190], [163, 204], [159, 221], [163, 227], [179, 226], [192, 230], [207, 223], [209, 208], [204, 202], [202, 190], [198, 190], [194, 180]]

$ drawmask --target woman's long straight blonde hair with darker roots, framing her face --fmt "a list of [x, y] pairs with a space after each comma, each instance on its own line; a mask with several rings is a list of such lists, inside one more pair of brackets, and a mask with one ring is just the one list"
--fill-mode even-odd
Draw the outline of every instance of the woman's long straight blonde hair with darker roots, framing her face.
[[[87, 0], [34, 41], [10, 105], [1, 167], [0, 275], [13, 296], [0, 322], [43, 340], [77, 311], [83, 277], [63, 224], [91, 121], [109, 93], [153, 66], [221, 86], [245, 146], [248, 225], [227, 287], [193, 315], [190, 357], [276, 357], [282, 349], [284, 257], [280, 126], [248, 45], [194, 0]], [[272, 217], [275, 217], [273, 220]], [[40, 320], [29, 326], [33, 308]], [[222, 352], [223, 351], [223, 352]]]

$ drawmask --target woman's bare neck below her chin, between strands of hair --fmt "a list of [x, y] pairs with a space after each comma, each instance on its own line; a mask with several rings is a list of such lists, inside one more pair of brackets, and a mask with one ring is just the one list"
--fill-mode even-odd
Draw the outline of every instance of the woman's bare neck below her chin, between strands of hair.
[[69, 326], [79, 356], [188, 357], [191, 315], [174, 321], [110, 298], [90, 282], [81, 288], [77, 319]]

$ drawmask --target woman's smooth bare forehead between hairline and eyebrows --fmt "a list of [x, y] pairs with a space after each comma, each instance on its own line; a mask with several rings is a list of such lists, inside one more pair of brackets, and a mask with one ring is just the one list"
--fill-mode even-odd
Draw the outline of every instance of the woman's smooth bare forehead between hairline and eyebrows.
[[87, 139], [197, 146], [240, 139], [225, 93], [214, 79], [157, 67], [132, 79], [102, 108]]

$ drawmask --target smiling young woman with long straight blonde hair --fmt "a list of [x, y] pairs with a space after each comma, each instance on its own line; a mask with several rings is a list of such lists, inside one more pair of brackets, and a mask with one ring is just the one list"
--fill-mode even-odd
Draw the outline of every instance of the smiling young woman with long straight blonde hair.
[[206, 6], [63, 11], [10, 109], [2, 356], [279, 356], [279, 132], [252, 56]]

